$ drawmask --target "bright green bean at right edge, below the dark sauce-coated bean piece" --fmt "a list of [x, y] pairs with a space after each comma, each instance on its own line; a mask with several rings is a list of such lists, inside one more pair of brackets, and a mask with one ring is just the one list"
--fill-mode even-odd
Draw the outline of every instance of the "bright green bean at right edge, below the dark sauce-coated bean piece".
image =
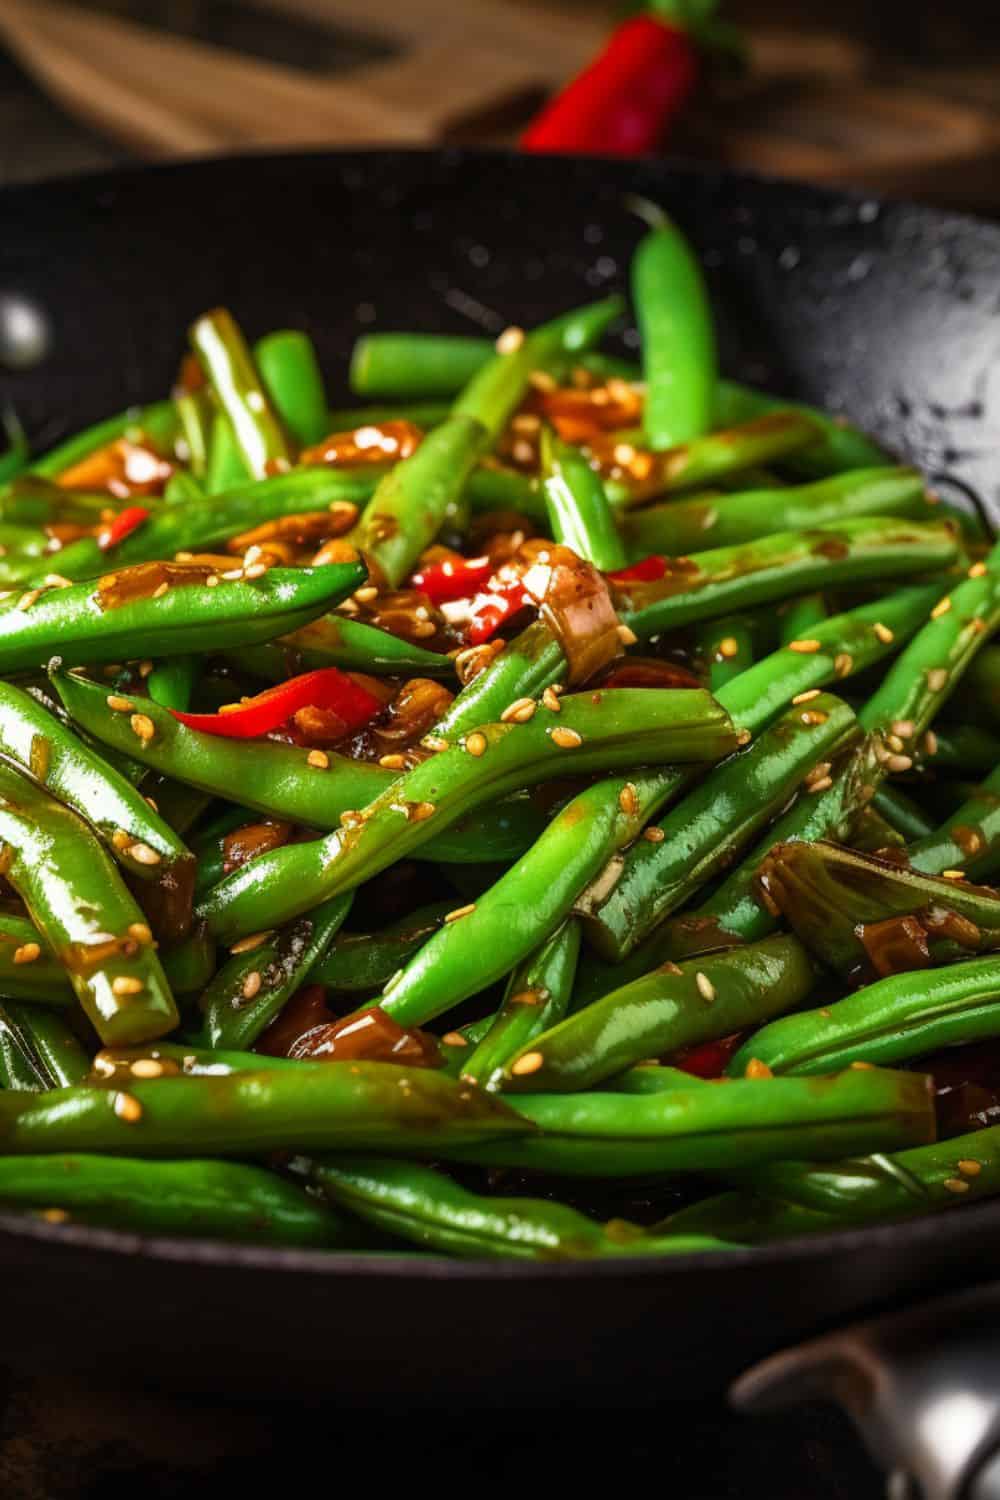
[[[1000, 1035], [1000, 964], [970, 958], [943, 969], [894, 974], [835, 1005], [771, 1022], [730, 1059], [774, 1072], [814, 1074], [852, 1062], [907, 1062], [939, 1047]], [[802, 1155], [802, 1152], [798, 1152]]]

